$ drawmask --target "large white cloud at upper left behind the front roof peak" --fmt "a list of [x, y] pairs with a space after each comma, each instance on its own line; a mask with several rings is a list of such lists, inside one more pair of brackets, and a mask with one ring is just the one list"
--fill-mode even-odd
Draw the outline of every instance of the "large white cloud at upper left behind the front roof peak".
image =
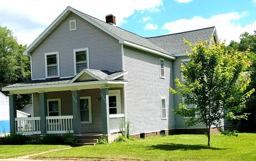
[[[106, 15], [113, 14], [116, 16], [116, 23], [119, 26], [120, 24], [127, 23], [125, 18], [134, 14], [135, 10], [155, 12], [162, 5], [162, 0], [61, 0], [61, 3], [57, 0], [8, 0], [1, 2], [0, 5], [0, 12], [8, 16], [0, 17], [0, 26], [7, 26], [7, 28], [13, 30], [19, 43], [29, 45], [67, 6], [103, 21], [105, 21]], [[25, 24], [27, 23], [26, 20], [33, 22], [33, 24], [27, 23], [31, 25], [29, 30], [27, 27], [20, 28], [20, 25], [13, 20], [13, 17], [17, 17], [17, 15], [22, 15], [23, 22], [20, 23]], [[34, 24], [37, 24], [36, 28], [34, 28]], [[38, 24], [40, 25], [38, 26]]]

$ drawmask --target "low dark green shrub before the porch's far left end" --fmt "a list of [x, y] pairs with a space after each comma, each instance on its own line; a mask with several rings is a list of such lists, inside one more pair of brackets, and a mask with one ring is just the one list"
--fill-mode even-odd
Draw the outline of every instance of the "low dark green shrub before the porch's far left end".
[[3, 138], [3, 144], [7, 145], [23, 145], [29, 140], [26, 136], [18, 133], [5, 135]]

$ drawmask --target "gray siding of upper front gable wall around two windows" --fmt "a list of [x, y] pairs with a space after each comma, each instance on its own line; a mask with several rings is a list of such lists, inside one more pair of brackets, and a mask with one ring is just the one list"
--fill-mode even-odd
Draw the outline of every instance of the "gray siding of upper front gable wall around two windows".
[[[69, 20], [76, 19], [77, 30], [69, 31]], [[60, 77], [74, 76], [74, 49], [89, 48], [90, 69], [121, 71], [119, 41], [74, 13], [59, 24], [32, 52], [33, 79], [45, 78], [45, 53], [59, 51]]]

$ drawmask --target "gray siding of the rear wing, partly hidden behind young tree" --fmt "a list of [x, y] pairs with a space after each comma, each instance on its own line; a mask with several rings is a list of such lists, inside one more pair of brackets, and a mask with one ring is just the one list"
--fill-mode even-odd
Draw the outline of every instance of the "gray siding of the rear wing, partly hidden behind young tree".
[[[180, 79], [180, 81], [182, 83], [185, 83], [186, 81], [182, 81], [182, 75], [180, 73], [180, 61], [182, 59], [189, 59], [187, 56], [179, 56], [179, 57], [176, 57], [176, 59], [173, 61], [173, 79], [175, 79], [176, 77], [178, 79]], [[175, 88], [174, 88], [175, 89]], [[178, 105], [179, 103], [181, 102], [182, 100], [182, 96], [181, 95], [175, 95], [174, 96], [174, 107], [176, 109], [178, 109]], [[198, 115], [198, 117], [200, 117]], [[184, 123], [184, 119], [183, 117], [180, 117], [180, 116], [175, 116], [175, 126], [177, 129], [184, 129], [185, 128], [185, 123]], [[223, 122], [223, 119], [221, 120], [221, 122]], [[212, 126], [211, 128], [213, 128], [214, 126]], [[203, 124], [203, 123], [199, 123], [195, 126], [191, 126], [189, 128], [206, 128], [206, 126]]]

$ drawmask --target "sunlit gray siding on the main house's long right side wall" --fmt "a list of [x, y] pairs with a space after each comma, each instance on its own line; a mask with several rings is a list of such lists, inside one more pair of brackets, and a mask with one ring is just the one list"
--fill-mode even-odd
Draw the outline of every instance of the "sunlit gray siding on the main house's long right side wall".
[[[124, 46], [126, 119], [130, 133], [156, 132], [174, 129], [173, 61], [164, 58], [165, 79], [160, 78], [159, 56]], [[161, 57], [163, 58], [163, 57]], [[166, 118], [161, 119], [161, 96], [166, 97]]]

